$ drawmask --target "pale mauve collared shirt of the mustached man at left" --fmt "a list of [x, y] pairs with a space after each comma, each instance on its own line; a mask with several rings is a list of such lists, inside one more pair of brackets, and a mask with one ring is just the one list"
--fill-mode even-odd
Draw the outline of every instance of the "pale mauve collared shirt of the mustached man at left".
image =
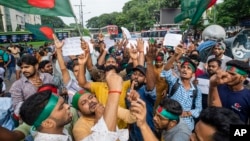
[[[50, 74], [39, 73], [39, 77], [42, 80], [43, 84], [53, 84], [53, 77]], [[16, 106], [19, 103], [22, 103], [29, 96], [37, 92], [37, 87], [34, 86], [31, 81], [29, 81], [26, 77], [23, 76], [12, 84], [9, 92], [11, 93], [12, 105], [16, 110]]]

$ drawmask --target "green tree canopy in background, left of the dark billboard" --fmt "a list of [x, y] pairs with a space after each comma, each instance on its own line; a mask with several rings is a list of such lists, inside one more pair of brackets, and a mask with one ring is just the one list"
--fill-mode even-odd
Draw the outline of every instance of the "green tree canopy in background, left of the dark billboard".
[[87, 27], [103, 27], [108, 24], [115, 24], [118, 27], [124, 26], [128, 30], [149, 29], [156, 23], [155, 13], [163, 7], [176, 8], [179, 0], [131, 0], [125, 3], [122, 12], [113, 12], [93, 17], [87, 21]]

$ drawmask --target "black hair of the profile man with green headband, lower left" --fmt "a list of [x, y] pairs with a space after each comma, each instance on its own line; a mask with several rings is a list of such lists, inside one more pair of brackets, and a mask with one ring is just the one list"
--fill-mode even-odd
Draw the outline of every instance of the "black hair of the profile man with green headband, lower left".
[[34, 125], [34, 122], [48, 104], [51, 91], [42, 91], [31, 95], [26, 99], [20, 108], [20, 117], [28, 125]]

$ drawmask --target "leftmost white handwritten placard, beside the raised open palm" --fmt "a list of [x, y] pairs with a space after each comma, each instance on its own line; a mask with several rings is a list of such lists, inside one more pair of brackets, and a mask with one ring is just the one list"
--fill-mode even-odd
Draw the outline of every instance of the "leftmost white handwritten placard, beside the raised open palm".
[[[90, 37], [84, 36], [83, 39], [89, 44], [90, 53], [93, 52], [93, 44], [90, 42]], [[80, 55], [83, 53], [81, 48], [80, 37], [71, 37], [64, 40], [62, 48], [63, 56]]]

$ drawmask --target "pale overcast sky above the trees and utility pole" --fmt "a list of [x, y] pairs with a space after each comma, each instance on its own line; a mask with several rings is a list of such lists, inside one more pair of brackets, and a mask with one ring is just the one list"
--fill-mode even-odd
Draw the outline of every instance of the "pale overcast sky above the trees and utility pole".
[[[104, 13], [121, 12], [122, 7], [129, 0], [82, 0], [83, 6], [83, 21], [86, 25], [86, 21], [100, 16]], [[76, 17], [79, 19], [79, 6], [80, 0], [70, 0], [72, 8]], [[75, 23], [74, 18], [61, 17], [65, 24]]]

